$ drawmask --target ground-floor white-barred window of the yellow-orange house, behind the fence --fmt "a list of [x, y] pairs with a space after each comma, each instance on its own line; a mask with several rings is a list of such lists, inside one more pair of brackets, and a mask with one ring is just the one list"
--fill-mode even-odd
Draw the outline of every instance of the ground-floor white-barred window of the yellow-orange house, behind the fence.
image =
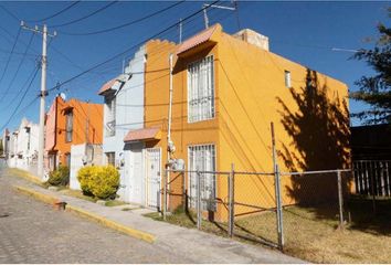
[[[212, 162], [212, 167], [214, 166], [214, 169], [212, 168], [212, 170], [204, 170], [203, 168], [202, 169], [199, 169], [200, 171], [216, 171], [216, 167], [218, 167], [218, 165], [216, 165], [216, 148], [215, 148], [215, 144], [200, 144], [200, 145], [190, 145], [190, 146], [188, 146], [188, 169], [189, 169], [189, 171], [196, 171], [197, 170], [197, 168], [192, 168], [191, 166], [192, 166], [192, 161], [191, 161], [191, 159], [192, 158], [197, 158], [197, 157], [202, 157], [202, 158], [205, 158], [205, 156], [194, 156], [194, 155], [191, 155], [191, 152], [192, 151], [194, 151], [194, 149], [197, 149], [197, 148], [199, 148], [199, 149], [202, 149], [202, 148], [204, 148], [204, 150], [205, 150], [205, 148], [213, 148], [212, 150], [213, 150], [213, 152], [212, 152], [212, 157], [211, 157], [211, 162]], [[193, 149], [193, 150], [192, 150]], [[205, 163], [205, 160], [203, 159], [202, 160], [202, 163]], [[189, 191], [189, 206], [190, 208], [196, 208], [196, 203], [197, 203], [197, 197], [196, 195], [192, 195], [192, 180], [193, 181], [197, 181], [196, 180], [196, 177], [197, 176], [197, 173], [196, 172], [189, 172], [188, 173], [188, 191]], [[205, 176], [205, 174], [203, 174], [203, 176]], [[212, 178], [212, 192], [213, 192], [213, 195], [214, 195], [214, 202], [213, 203], [209, 203], [208, 204], [208, 202], [205, 202], [205, 201], [201, 201], [201, 210], [203, 210], [203, 211], [213, 211], [213, 212], [215, 212], [216, 211], [216, 202], [215, 202], [215, 199], [218, 198], [218, 190], [216, 190], [216, 174], [215, 173], [213, 173], [212, 176], [211, 176], [211, 178]], [[196, 182], [197, 183], [197, 182]], [[196, 184], [194, 183], [194, 184]], [[200, 183], [200, 186], [202, 187], [202, 188], [204, 188], [205, 186], [204, 186], [204, 183]], [[196, 184], [196, 187], [197, 187], [197, 184]], [[194, 189], [196, 190], [196, 189]], [[196, 190], [196, 192], [197, 192], [197, 190]], [[197, 193], [196, 193], [197, 194]], [[203, 197], [203, 195], [205, 195], [205, 193], [204, 193], [204, 191], [202, 191], [201, 190], [201, 198]], [[208, 199], [208, 198], [202, 198], [202, 199]]]

